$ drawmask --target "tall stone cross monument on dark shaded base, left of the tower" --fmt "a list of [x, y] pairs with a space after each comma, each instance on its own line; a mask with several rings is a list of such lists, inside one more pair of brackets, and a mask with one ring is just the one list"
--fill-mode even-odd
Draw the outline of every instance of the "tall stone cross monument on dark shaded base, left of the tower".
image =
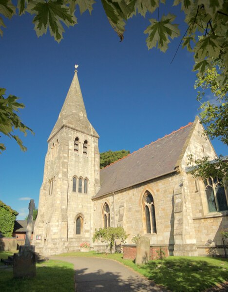
[[19, 253], [14, 253], [15, 278], [36, 276], [35, 246], [30, 245], [34, 208], [35, 208], [34, 200], [30, 200], [25, 245], [21, 245], [19, 247]]

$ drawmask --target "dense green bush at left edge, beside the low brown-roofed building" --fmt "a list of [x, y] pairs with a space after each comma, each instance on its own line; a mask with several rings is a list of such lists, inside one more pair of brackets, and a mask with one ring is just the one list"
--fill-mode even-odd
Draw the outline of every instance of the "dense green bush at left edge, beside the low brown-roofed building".
[[17, 215], [17, 211], [0, 201], [0, 231], [4, 237], [12, 236]]

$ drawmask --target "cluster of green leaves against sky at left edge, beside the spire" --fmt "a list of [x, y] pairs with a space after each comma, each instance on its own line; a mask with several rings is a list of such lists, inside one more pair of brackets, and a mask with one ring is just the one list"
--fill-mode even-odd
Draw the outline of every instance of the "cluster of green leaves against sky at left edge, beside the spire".
[[[20, 149], [22, 151], [26, 151], [27, 148], [22, 144], [19, 136], [13, 135], [14, 130], [17, 129], [24, 133], [25, 136], [27, 135], [26, 131], [33, 133], [30, 128], [21, 122], [19, 116], [17, 115], [19, 109], [23, 109], [24, 105], [23, 103], [19, 103], [17, 101], [19, 99], [18, 97], [10, 95], [7, 98], [4, 98], [4, 94], [5, 89], [0, 88], [0, 132], [10, 138], [14, 138], [20, 146]], [[5, 145], [0, 143], [0, 153], [3, 150], [5, 150]]]

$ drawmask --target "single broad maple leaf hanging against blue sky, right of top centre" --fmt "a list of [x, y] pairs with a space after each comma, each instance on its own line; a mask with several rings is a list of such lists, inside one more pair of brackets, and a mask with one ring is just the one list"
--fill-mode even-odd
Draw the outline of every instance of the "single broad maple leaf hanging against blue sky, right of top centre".
[[157, 46], [162, 52], [166, 52], [169, 38], [174, 39], [180, 35], [178, 24], [171, 23], [174, 19], [175, 16], [170, 13], [167, 16], [163, 15], [160, 22], [150, 19], [152, 24], [144, 31], [145, 34], [149, 34], [146, 39], [148, 49]]

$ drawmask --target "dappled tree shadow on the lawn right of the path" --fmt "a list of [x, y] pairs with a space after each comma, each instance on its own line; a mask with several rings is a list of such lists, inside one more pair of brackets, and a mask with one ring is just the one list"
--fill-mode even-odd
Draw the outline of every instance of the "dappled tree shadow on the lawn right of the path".
[[228, 270], [204, 260], [166, 259], [149, 262], [141, 269], [149, 279], [171, 291], [204, 291], [216, 283], [228, 280]]

